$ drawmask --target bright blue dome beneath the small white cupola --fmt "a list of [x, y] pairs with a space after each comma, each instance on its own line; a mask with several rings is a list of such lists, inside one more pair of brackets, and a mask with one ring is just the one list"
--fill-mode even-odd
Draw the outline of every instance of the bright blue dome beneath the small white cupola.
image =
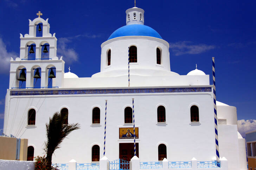
[[153, 28], [140, 24], [131, 24], [118, 28], [109, 36], [108, 40], [120, 36], [152, 36], [162, 39], [158, 32], [156, 32]]

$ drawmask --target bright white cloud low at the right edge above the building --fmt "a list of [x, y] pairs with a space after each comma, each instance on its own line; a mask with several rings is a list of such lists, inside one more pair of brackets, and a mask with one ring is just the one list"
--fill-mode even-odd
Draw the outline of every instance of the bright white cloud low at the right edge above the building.
[[245, 137], [245, 132], [256, 130], [256, 120], [238, 120], [237, 127], [238, 132]]

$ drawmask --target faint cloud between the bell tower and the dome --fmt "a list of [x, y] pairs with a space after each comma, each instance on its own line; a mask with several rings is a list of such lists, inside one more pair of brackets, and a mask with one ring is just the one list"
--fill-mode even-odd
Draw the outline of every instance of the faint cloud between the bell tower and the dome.
[[63, 56], [63, 60], [67, 63], [72, 63], [73, 61], [78, 61], [78, 54], [75, 49], [68, 48], [67, 44], [71, 42], [69, 38], [59, 38], [58, 39], [58, 56]]

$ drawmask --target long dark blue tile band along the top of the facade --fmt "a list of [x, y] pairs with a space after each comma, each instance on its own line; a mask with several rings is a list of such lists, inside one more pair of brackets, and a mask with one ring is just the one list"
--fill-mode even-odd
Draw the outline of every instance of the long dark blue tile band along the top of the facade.
[[82, 89], [82, 90], [20, 90], [10, 91], [11, 96], [69, 95], [69, 94], [134, 94], [134, 93], [190, 93], [211, 92], [211, 87], [140, 88], [140, 89]]

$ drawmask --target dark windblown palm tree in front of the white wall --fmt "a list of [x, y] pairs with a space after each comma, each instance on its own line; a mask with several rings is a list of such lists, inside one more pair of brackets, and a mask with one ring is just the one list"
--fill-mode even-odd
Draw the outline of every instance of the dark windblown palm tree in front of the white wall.
[[52, 154], [58, 148], [64, 138], [70, 134], [71, 131], [79, 129], [80, 124], [72, 123], [65, 124], [68, 114], [61, 114], [56, 112], [50, 117], [49, 123], [46, 123], [46, 137], [44, 151], [46, 153], [46, 168], [51, 170]]

